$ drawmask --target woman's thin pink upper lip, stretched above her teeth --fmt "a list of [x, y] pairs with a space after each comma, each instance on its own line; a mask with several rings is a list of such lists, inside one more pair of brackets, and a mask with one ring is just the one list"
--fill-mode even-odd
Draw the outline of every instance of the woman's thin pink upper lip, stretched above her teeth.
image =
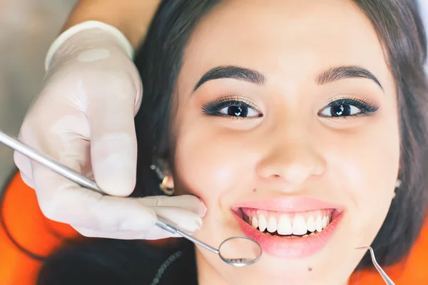
[[239, 208], [263, 209], [275, 212], [307, 212], [317, 209], [337, 209], [341, 211], [344, 209], [344, 207], [339, 204], [325, 202], [321, 199], [292, 196], [271, 197], [258, 201], [240, 202], [232, 206], [233, 210]]

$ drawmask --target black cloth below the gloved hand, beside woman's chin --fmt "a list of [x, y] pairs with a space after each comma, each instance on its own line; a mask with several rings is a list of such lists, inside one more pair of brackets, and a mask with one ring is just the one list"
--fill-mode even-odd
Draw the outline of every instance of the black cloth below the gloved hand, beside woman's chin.
[[195, 250], [187, 240], [179, 247], [158, 249], [143, 241], [116, 239], [92, 239], [58, 250], [42, 266], [37, 285], [148, 285], [178, 250], [182, 256], [165, 269], [158, 284], [196, 285]]

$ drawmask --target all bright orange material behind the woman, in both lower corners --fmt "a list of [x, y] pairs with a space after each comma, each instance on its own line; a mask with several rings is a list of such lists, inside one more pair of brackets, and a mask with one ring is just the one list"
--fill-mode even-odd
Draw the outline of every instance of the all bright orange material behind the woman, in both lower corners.
[[[22, 247], [39, 255], [49, 255], [63, 244], [63, 239], [81, 237], [66, 224], [44, 217], [37, 198], [19, 174], [6, 188], [4, 224]], [[19, 251], [0, 227], [0, 284], [34, 285], [41, 262]], [[396, 285], [428, 284], [428, 219], [406, 263], [386, 269]], [[352, 275], [350, 285], [384, 285], [377, 271], [361, 271]]]

